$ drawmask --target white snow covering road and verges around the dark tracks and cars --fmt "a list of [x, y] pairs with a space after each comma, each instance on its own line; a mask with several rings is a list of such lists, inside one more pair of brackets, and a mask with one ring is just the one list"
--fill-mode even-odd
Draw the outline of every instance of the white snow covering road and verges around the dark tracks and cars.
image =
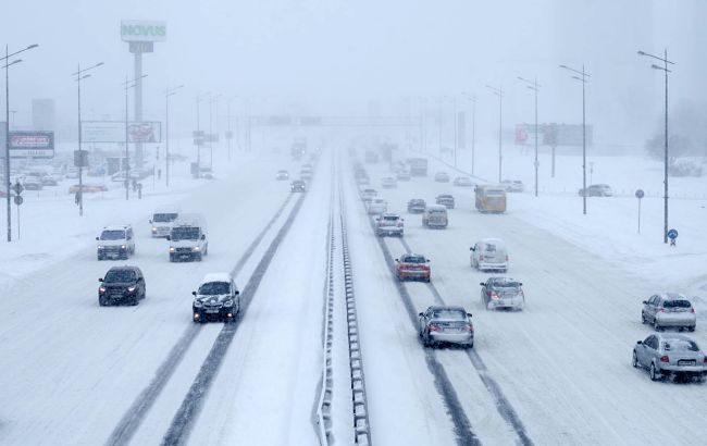
[[[468, 154], [459, 153], [458, 165], [469, 165]], [[334, 175], [330, 157], [320, 163], [311, 190], [238, 322], [189, 444], [318, 442], [312, 414], [322, 363], [327, 203]], [[444, 369], [459, 401], [455, 410], [483, 444], [518, 442], [517, 431], [499, 412], [498, 395], [489, 391], [489, 379], [538, 445], [687, 444], [702, 436], [705, 384], [652, 383], [645, 372], [631, 368], [630, 359], [633, 343], [652, 333], [641, 325], [641, 300], [656, 292], [683, 292], [693, 298], [699, 317], [694, 337], [707, 347], [703, 179], [671, 182], [670, 225], [680, 231], [673, 248], [662, 244], [661, 166], [641, 158], [592, 158], [593, 183], [610, 184], [618, 196], [587, 199], [587, 215], [576, 194], [581, 159], [574, 156], [558, 157], [557, 176], [550, 178], [549, 159], [542, 154], [536, 198], [532, 156], [508, 150], [504, 176], [522, 179], [526, 190], [509, 195], [503, 215], [479, 214], [472, 190], [436, 184], [431, 176], [384, 191], [390, 210], [400, 212], [413, 197], [433, 201], [438, 193], [451, 191], [457, 198], [445, 231], [424, 230], [419, 216], [404, 215], [404, 241], [432, 259], [436, 290], [420, 283], [404, 285], [415, 309], [444, 300], [474, 314], [473, 355], [458, 349], [430, 352], [418, 343], [370, 230], [347, 157], [342, 152], [335, 179], [343, 184], [346, 203], [373, 443], [466, 444], [455, 432], [430, 361]], [[477, 161], [475, 173], [495, 178], [494, 158]], [[285, 156], [253, 152], [221, 166], [210, 182], [189, 178], [187, 168], [184, 163], [174, 170], [169, 190], [163, 184], [151, 188], [148, 181], [141, 200], [126, 201], [121, 189], [91, 197], [83, 218], [73, 196], [25, 193], [22, 238], [0, 249], [0, 444], [106, 443], [173, 346], [194, 330], [190, 292], [204, 273], [234, 269], [290, 194], [287, 182], [274, 181], [274, 172], [293, 173], [299, 164]], [[386, 166], [367, 168], [377, 188], [388, 174]], [[431, 173], [437, 170], [455, 176], [448, 165], [431, 161]], [[633, 197], [638, 187], [648, 195], [642, 202], [640, 234]], [[207, 216], [210, 255], [203, 262], [169, 263], [165, 241], [149, 237], [151, 211], [165, 206]], [[241, 289], [293, 206], [294, 200], [236, 272]], [[99, 308], [96, 280], [115, 262], [96, 261], [94, 237], [102, 225], [121, 222], [136, 230], [137, 255], [128, 262], [144, 270], [148, 297], [138, 307]], [[479, 282], [487, 274], [469, 268], [468, 249], [484, 236], [507, 241], [509, 275], [524, 283], [525, 311], [482, 308]], [[406, 249], [397, 239], [384, 243], [396, 257]], [[199, 326], [132, 444], [162, 441], [222, 326]], [[347, 399], [338, 396], [335, 401]], [[337, 432], [337, 444], [351, 443], [352, 437]]]

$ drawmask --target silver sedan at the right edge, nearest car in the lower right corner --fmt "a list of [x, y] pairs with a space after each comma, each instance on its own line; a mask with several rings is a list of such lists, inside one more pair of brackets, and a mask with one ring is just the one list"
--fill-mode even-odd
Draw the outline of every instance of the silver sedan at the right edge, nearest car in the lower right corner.
[[656, 333], [633, 347], [633, 367], [648, 369], [652, 381], [668, 375], [705, 380], [707, 358], [690, 337], [678, 333]]

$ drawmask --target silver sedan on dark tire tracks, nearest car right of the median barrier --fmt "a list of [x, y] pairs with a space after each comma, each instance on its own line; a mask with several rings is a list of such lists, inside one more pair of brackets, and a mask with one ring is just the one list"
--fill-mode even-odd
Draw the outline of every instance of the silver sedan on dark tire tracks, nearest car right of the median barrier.
[[471, 313], [463, 307], [432, 306], [418, 314], [419, 335], [425, 347], [435, 344], [474, 346], [474, 325]]

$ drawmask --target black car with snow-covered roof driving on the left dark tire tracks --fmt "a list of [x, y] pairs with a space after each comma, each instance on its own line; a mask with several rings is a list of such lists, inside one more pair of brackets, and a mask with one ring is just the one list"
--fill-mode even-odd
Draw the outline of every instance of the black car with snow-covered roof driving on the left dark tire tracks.
[[199, 289], [191, 294], [194, 322], [233, 322], [240, 311], [240, 292], [230, 273], [207, 274]]

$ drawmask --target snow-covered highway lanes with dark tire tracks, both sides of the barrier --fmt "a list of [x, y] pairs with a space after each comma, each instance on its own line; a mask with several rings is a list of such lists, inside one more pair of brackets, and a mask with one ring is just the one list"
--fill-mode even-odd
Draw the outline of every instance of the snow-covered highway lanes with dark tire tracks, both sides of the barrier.
[[[98, 306], [96, 280], [112, 262], [90, 241], [5, 295], [0, 323], [2, 444], [318, 444], [328, 235], [345, 218], [352, 261], [371, 443], [686, 444], [707, 409], [700, 383], [653, 383], [631, 348], [653, 329], [638, 319], [655, 283], [513, 215], [480, 214], [472, 190], [429, 177], [382, 190], [405, 218], [401, 239], [377, 238], [358, 197], [350, 160], [332, 150], [310, 189], [292, 194], [261, 154], [181, 198], [207, 215], [209, 256], [170, 263], [163, 239], [135, 215], [147, 277], [137, 307]], [[388, 175], [368, 165], [373, 187]], [[452, 193], [449, 227], [427, 230], [404, 212], [411, 198]], [[519, 197], [523, 199], [524, 197]], [[339, 208], [338, 203], [343, 203]], [[487, 311], [469, 247], [497, 236], [508, 275], [524, 284], [521, 312]], [[335, 236], [334, 251], [340, 250]], [[398, 283], [405, 251], [432, 262], [432, 283]], [[337, 253], [338, 256], [338, 253]], [[347, 382], [344, 289], [334, 296], [334, 444], [355, 442]], [[234, 324], [191, 322], [191, 290], [208, 272], [232, 271], [244, 306]], [[417, 313], [435, 303], [473, 313], [472, 350], [424, 348]], [[698, 308], [699, 310], [699, 308]], [[699, 326], [694, 337], [707, 345]], [[679, 411], [662, 410], [680, 408]], [[656, 423], [660, 410], [662, 422]], [[648, 434], [648, 432], [650, 432]]]

